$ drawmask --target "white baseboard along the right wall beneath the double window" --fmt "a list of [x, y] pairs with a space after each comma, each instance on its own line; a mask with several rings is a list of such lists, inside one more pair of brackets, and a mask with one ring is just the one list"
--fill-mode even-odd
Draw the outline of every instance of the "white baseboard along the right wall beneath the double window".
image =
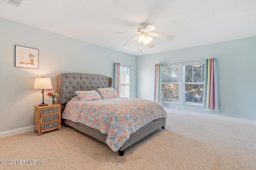
[[174, 110], [174, 109], [165, 109], [166, 112], [172, 112], [172, 113], [180, 113], [180, 114], [186, 114], [186, 115], [193, 115], [193, 116], [199, 116], [199, 117], [207, 117], [212, 119], [219, 119], [219, 120], [225, 120], [225, 121], [234, 121], [238, 123], [246, 123], [251, 125], [256, 125], [255, 120], [249, 120], [249, 119], [240, 119], [236, 117], [227, 117], [227, 116], [220, 116], [220, 115], [211, 115], [206, 113], [196, 113], [192, 111], [182, 111], [182, 110]]

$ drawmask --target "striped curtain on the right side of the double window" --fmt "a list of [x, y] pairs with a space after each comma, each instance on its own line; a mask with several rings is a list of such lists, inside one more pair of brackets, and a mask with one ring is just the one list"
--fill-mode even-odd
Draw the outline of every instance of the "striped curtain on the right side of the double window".
[[219, 111], [216, 60], [205, 60], [203, 109], [211, 111]]

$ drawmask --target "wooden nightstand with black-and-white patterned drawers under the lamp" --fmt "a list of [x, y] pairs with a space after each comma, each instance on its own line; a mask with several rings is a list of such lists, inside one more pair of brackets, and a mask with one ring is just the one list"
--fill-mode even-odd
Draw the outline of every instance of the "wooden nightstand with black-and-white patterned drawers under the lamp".
[[34, 106], [35, 108], [35, 132], [38, 135], [58, 129], [60, 131], [60, 104], [48, 106]]

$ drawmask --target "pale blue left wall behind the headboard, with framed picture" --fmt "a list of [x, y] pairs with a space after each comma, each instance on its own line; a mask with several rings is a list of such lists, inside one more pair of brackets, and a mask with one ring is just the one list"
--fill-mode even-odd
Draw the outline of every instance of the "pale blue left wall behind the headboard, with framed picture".
[[[15, 45], [39, 49], [39, 69], [15, 67]], [[34, 105], [42, 102], [35, 78], [83, 72], [113, 78], [114, 62], [131, 65], [130, 97], [136, 98], [136, 57], [0, 18], [0, 131], [34, 125]], [[45, 102], [48, 103], [47, 97]]]

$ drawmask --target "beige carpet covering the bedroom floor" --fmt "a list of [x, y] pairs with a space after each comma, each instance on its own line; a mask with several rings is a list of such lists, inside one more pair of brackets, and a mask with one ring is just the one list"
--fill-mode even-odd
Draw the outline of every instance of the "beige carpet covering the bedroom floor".
[[256, 126], [168, 113], [166, 129], [124, 156], [66, 126], [0, 139], [0, 149], [1, 160], [31, 163], [1, 164], [1, 170], [256, 170]]

